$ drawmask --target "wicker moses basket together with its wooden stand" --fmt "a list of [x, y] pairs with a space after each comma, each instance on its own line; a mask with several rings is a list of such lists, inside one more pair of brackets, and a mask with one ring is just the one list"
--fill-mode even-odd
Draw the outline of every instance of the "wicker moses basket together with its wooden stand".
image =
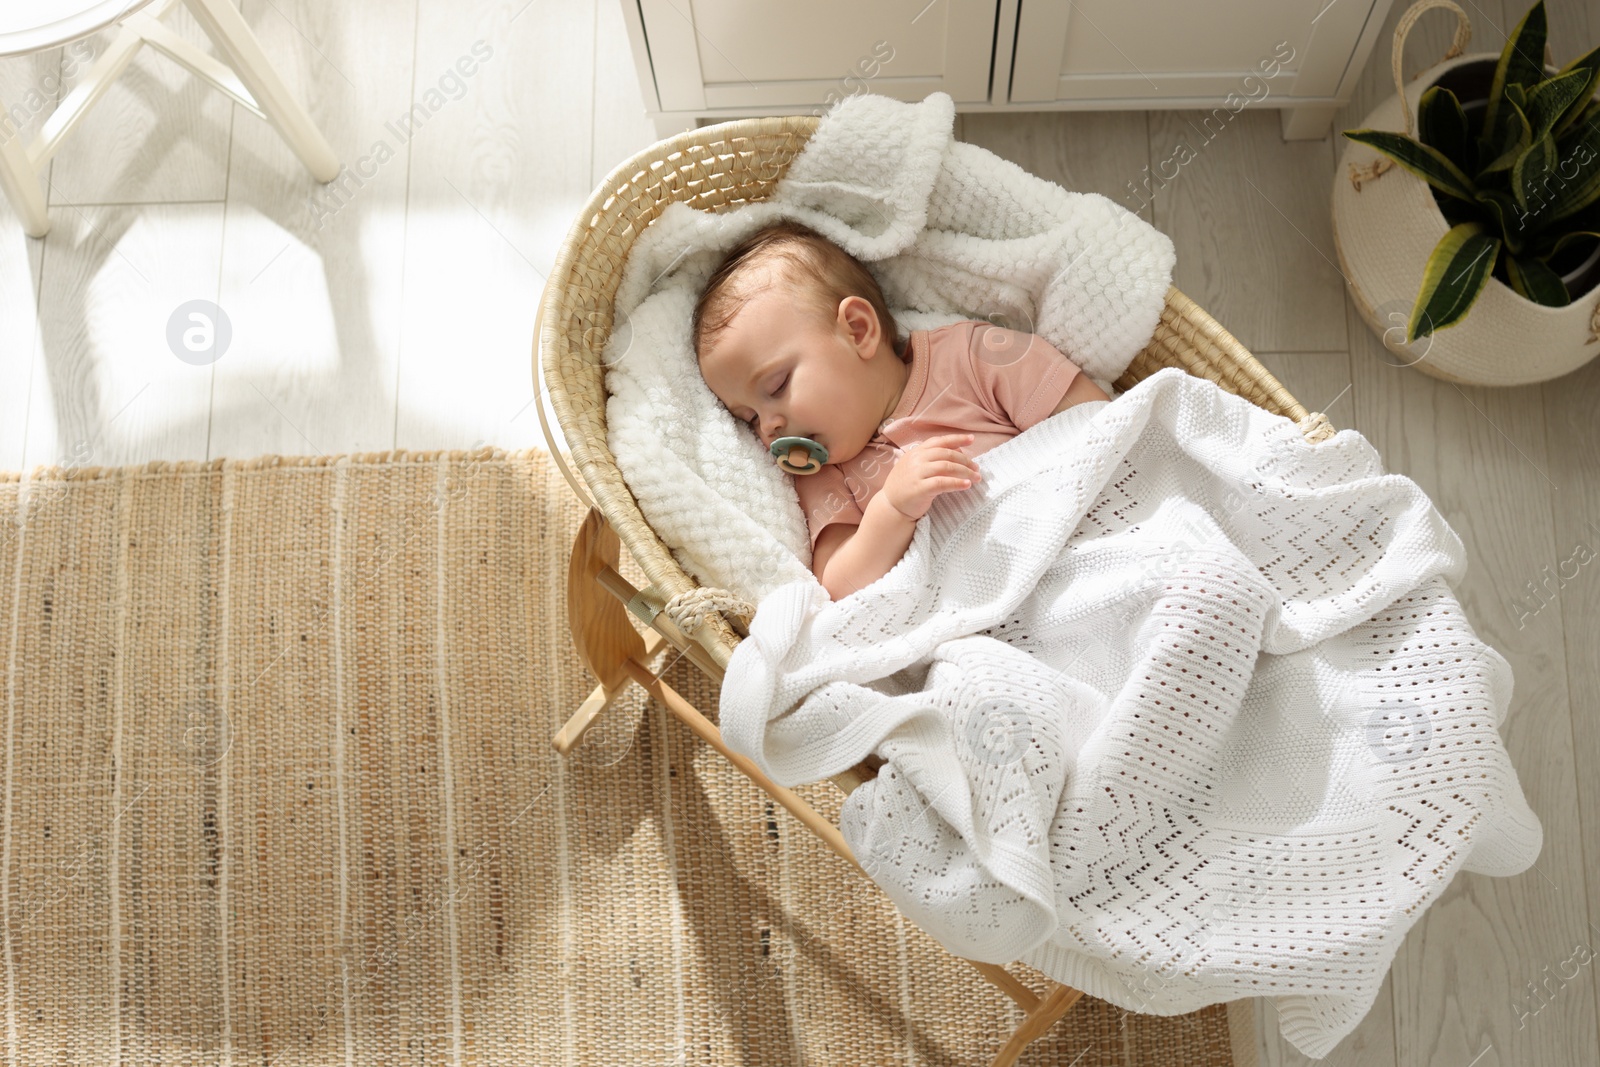
[[[750, 606], [728, 590], [701, 587], [678, 566], [622, 480], [606, 445], [605, 424], [602, 354], [611, 334], [613, 299], [634, 240], [674, 202], [686, 202], [701, 211], [730, 211], [766, 198], [818, 122], [814, 115], [782, 115], [701, 126], [659, 141], [616, 166], [589, 197], [557, 251], [539, 301], [533, 376], [534, 390], [547, 392], [571, 467], [544, 419], [541, 398], [536, 406], [550, 454], [573, 491], [590, 506], [573, 545], [566, 579], [568, 622], [579, 657], [600, 685], [557, 731], [557, 750], [570, 752], [616, 694], [637, 681], [859, 869], [834, 824], [731, 752], [717, 726], [645, 665], [662, 643], [670, 643], [720, 683], [728, 657], [747, 635], [744, 617]], [[1293, 419], [1307, 440], [1333, 435], [1326, 416], [1307, 413], [1245, 346], [1176, 288], [1166, 291], [1150, 342], [1114, 386], [1125, 392], [1168, 366], [1206, 378], [1274, 414]], [[648, 587], [635, 589], [618, 573], [619, 547], [626, 547], [638, 563]], [[642, 637], [626, 613], [650, 627], [648, 635]], [[832, 781], [848, 793], [870, 779], [875, 766], [869, 758]], [[1082, 997], [1082, 992], [1059, 982], [1038, 995], [1002, 966], [970, 963], [1026, 1013], [995, 1054], [995, 1067], [1016, 1062], [1022, 1049]]]

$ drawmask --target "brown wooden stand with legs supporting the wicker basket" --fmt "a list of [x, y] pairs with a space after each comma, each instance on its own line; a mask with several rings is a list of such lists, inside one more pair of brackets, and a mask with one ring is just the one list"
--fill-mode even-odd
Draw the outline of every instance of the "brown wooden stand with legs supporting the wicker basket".
[[[659, 597], [651, 597], [653, 589], [638, 590], [618, 573], [621, 557], [621, 541], [606, 525], [598, 509], [590, 507], [578, 536], [573, 539], [573, 553], [566, 568], [566, 621], [573, 630], [573, 643], [578, 646], [578, 657], [600, 678], [600, 685], [584, 699], [571, 718], [555, 733], [552, 744], [562, 755], [568, 753], [582, 741], [584, 731], [610, 705], [616, 694], [629, 681], [637, 681], [651, 696], [672, 712], [672, 715], [694, 731], [706, 744], [720, 752], [739, 773], [747, 776], [766, 792], [768, 797], [782, 805], [808, 830], [816, 833], [838, 856], [856, 870], [862, 870], [856, 862], [845, 835], [832, 822], [824, 819], [811, 805], [802, 800], [794, 790], [776, 784], [757, 768], [750, 760], [728, 749], [717, 725], [707, 720], [670, 685], [661, 680], [659, 673], [648, 664], [661, 645], [670, 645], [694, 661], [714, 681], [722, 681], [723, 670], [706, 653], [706, 649], [683, 633], [672, 619], [659, 609]], [[627, 608], [624, 609], [624, 605]], [[627, 621], [627, 611], [634, 611], [642, 621], [653, 627], [648, 637], [640, 637], [634, 624]], [[851, 768], [832, 776], [832, 782], [845, 793], [872, 777], [872, 771], [862, 766]], [[965, 958], [965, 957], [957, 957]], [[995, 963], [966, 960], [979, 974], [994, 982], [1010, 997], [1026, 1017], [995, 1054], [992, 1067], [1011, 1067], [1034, 1040], [1050, 1030], [1072, 1005], [1083, 997], [1082, 990], [1051, 982], [1050, 992], [1043, 997], [1030, 990], [1021, 979]]]

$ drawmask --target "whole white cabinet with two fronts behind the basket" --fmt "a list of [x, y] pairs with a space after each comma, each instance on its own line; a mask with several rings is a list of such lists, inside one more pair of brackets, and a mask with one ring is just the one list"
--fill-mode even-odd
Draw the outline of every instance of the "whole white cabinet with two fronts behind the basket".
[[960, 112], [1283, 109], [1318, 139], [1392, 0], [619, 0], [661, 136], [870, 91]]

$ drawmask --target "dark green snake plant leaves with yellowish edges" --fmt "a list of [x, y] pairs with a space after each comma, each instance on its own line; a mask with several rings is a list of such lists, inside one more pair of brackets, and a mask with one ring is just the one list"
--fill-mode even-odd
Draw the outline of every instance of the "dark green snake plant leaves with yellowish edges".
[[1344, 131], [1426, 181], [1450, 224], [1427, 258], [1408, 344], [1466, 317], [1490, 277], [1549, 307], [1581, 296], [1562, 267], [1600, 242], [1600, 48], [1546, 75], [1547, 27], [1539, 0], [1507, 38], [1486, 101], [1462, 107], [1443, 85], [1422, 93], [1418, 138]]

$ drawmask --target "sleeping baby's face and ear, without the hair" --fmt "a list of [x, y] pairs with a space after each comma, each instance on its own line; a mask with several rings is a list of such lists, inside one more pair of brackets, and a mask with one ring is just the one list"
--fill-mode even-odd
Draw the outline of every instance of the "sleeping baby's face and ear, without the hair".
[[[882, 346], [882, 347], [880, 347]], [[771, 448], [779, 437], [810, 437], [827, 462], [854, 458], [899, 402], [872, 304], [840, 302], [832, 323], [781, 288], [768, 288], [734, 314], [701, 352], [701, 374], [733, 418]]]

